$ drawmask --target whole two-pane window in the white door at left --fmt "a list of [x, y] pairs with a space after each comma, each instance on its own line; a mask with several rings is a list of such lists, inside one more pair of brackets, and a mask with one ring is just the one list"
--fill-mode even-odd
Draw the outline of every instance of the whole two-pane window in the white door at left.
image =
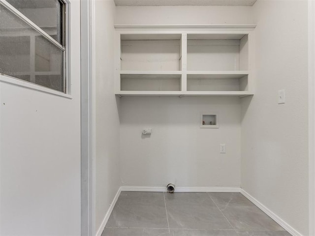
[[0, 74], [66, 93], [66, 3], [0, 0]]

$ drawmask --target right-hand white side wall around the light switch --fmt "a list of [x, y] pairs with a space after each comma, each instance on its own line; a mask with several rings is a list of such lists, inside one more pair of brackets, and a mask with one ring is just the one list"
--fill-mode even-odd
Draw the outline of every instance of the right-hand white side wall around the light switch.
[[258, 0], [253, 16], [256, 83], [242, 100], [242, 188], [308, 235], [307, 1]]

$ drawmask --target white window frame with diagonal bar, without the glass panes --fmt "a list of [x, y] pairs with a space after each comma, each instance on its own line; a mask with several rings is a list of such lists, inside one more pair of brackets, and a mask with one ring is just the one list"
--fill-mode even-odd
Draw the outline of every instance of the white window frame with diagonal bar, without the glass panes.
[[[12, 6], [10, 3], [8, 3], [6, 0], [0, 0], [0, 4], [4, 6], [7, 10], [9, 10], [12, 14], [14, 14], [16, 17], [21, 19], [23, 22], [28, 24], [32, 29], [37, 31], [41, 36], [43, 36], [46, 40], [48, 40], [50, 43], [58, 47], [60, 50], [63, 51], [63, 91], [58, 91], [55, 89], [51, 89], [48, 87], [44, 87], [41, 85], [37, 85], [32, 82], [24, 81], [12, 76], [4, 75], [0, 73], [0, 80], [8, 83], [9, 80], [15, 79], [18, 81], [23, 81], [23, 83], [10, 83], [10, 84], [17, 84], [18, 86], [28, 87], [30, 89], [35, 90], [41, 90], [44, 92], [52, 93], [52, 94], [65, 94], [67, 98], [69, 98], [69, 95], [71, 95], [71, 74], [70, 74], [70, 1], [69, 0], [58, 0], [61, 3], [63, 3], [63, 14], [61, 20], [62, 22], [62, 44], [60, 44], [58, 41], [56, 41], [53, 37], [51, 37], [48, 33], [46, 33], [43, 29], [38, 27], [35, 23], [33, 23], [28, 17], [26, 17], [24, 14], [22, 14], [18, 9], [16, 9], [14, 6]], [[6, 79], [1, 79], [1, 77], [6, 77]], [[29, 86], [28, 86], [29, 85]], [[37, 87], [37, 88], [36, 88]], [[53, 91], [53, 92], [50, 92]], [[57, 95], [56, 94], [56, 95]], [[59, 95], [61, 95], [59, 94]]]

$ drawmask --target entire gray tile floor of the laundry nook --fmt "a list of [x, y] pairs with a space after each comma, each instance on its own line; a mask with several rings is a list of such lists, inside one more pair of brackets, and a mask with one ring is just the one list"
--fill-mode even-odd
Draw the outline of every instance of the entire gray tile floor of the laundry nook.
[[102, 236], [290, 236], [240, 193], [122, 192]]

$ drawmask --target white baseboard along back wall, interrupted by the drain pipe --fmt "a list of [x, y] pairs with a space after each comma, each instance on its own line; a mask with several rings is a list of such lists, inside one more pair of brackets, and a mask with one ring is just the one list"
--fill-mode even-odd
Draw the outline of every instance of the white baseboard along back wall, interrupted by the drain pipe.
[[[130, 192], [166, 192], [166, 186], [159, 187], [144, 187], [144, 186], [122, 186], [121, 191]], [[176, 193], [240, 193], [239, 187], [176, 187]]]

